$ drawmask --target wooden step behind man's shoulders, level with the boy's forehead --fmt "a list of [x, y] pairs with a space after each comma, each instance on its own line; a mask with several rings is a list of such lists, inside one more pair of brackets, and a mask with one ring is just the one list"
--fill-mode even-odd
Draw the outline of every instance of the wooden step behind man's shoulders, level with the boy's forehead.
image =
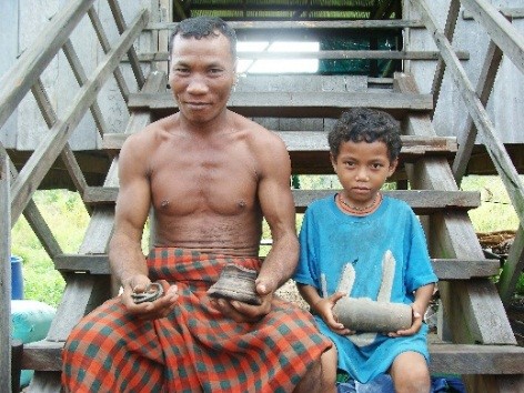
[[[272, 124], [275, 125], [275, 124]], [[284, 141], [291, 158], [294, 174], [333, 174], [330, 147], [325, 131], [274, 131]], [[102, 149], [115, 155], [129, 135], [108, 133], [103, 137]], [[457, 151], [455, 137], [419, 138], [402, 135], [402, 163], [415, 162], [422, 157], [452, 158]]]

